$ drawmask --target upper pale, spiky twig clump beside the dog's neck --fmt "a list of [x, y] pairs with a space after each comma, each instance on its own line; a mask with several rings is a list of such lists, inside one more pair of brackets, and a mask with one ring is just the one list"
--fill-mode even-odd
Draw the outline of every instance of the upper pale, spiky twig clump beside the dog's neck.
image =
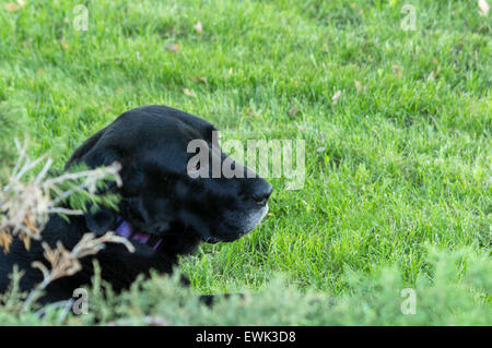
[[[56, 178], [46, 178], [52, 160], [46, 157], [31, 159], [26, 153], [26, 144], [20, 145], [15, 141], [19, 159], [8, 176], [7, 184], [0, 183], [0, 247], [9, 252], [12, 237], [19, 236], [26, 249], [30, 249], [31, 239], [39, 240], [49, 214], [81, 215], [81, 209], [60, 206], [71, 195], [86, 191], [94, 195], [98, 183], [112, 178], [117, 185], [121, 184], [118, 175], [121, 166], [118, 163], [108, 167], [83, 170], [80, 172], [66, 172]], [[35, 177], [34, 168], [42, 165], [43, 169]]]

